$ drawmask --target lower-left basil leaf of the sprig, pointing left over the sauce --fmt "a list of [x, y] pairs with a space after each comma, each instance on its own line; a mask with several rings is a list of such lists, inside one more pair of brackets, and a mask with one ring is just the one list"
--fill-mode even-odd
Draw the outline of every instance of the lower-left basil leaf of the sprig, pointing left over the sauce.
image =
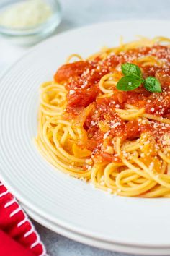
[[140, 77], [136, 77], [135, 75], [126, 75], [125, 77], [122, 77], [119, 82], [117, 82], [117, 89], [118, 90], [134, 90], [141, 85], [143, 82], [143, 79]]

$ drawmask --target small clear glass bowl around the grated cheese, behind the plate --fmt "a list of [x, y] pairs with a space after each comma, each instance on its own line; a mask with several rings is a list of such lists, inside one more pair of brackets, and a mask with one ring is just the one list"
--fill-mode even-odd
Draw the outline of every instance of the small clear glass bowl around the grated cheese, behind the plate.
[[[18, 4], [22, 1], [1, 0], [0, 12], [2, 9], [5, 10], [8, 8], [11, 4]], [[22, 46], [31, 46], [38, 41], [47, 38], [48, 35], [54, 32], [55, 28], [58, 27], [61, 22], [61, 5], [58, 0], [45, 0], [45, 2], [49, 4], [53, 10], [53, 14], [48, 18], [48, 20], [35, 27], [19, 29], [13, 27], [4, 27], [0, 25], [0, 35], [6, 39], [12, 40], [13, 43], [17, 43]]]

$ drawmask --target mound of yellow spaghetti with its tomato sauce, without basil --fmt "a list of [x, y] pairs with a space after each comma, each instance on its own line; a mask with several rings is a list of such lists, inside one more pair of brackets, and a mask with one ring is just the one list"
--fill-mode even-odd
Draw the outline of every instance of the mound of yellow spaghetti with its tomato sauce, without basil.
[[[40, 88], [42, 155], [71, 176], [128, 197], [170, 197], [170, 39], [140, 38], [78, 54]], [[71, 61], [76, 58], [76, 61]], [[121, 64], [156, 77], [161, 93], [117, 90]]]

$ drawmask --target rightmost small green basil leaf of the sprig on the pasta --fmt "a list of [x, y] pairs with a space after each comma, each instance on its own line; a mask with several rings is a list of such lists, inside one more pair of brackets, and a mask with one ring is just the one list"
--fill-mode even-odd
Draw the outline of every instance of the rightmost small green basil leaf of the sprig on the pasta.
[[161, 83], [156, 79], [156, 77], [147, 77], [143, 82], [144, 88], [151, 93], [161, 93]]

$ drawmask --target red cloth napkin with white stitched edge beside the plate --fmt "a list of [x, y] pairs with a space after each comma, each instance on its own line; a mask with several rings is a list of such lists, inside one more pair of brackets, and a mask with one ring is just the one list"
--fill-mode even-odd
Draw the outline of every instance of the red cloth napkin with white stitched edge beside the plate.
[[0, 182], [0, 255], [45, 256], [40, 236], [15, 197]]

